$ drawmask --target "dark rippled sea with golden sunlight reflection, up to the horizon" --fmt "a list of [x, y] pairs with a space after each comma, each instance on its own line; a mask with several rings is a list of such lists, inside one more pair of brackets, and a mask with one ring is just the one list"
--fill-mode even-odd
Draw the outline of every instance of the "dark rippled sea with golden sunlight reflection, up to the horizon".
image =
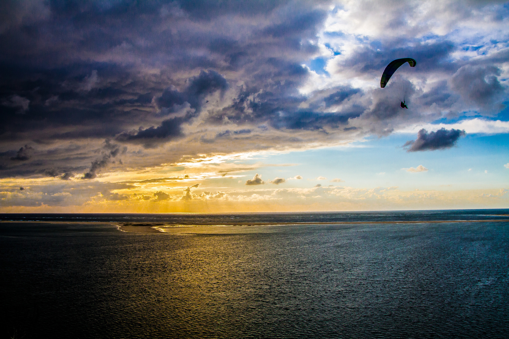
[[0, 214], [0, 338], [506, 338], [508, 219]]

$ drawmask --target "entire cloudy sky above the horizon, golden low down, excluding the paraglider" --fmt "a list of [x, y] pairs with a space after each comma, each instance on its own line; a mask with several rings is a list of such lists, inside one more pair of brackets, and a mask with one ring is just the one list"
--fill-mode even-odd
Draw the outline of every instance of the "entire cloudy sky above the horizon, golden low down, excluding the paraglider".
[[0, 212], [509, 208], [509, 2], [0, 7]]

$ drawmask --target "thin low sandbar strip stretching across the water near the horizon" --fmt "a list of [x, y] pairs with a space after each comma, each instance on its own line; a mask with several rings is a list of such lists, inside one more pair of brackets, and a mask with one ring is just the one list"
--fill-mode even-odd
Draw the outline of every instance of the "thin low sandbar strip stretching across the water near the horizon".
[[[500, 215], [500, 217], [505, 215]], [[175, 224], [161, 224], [161, 223], [117, 223], [112, 224], [108, 222], [91, 222], [91, 221], [13, 221], [5, 220], [1, 223], [46, 223], [46, 224], [92, 224], [92, 225], [110, 225], [116, 226], [117, 230], [122, 232], [132, 233], [185, 233], [184, 229], [190, 230], [198, 228], [223, 228], [228, 226], [237, 227], [256, 227], [256, 226], [281, 226], [281, 225], [358, 225], [358, 224], [444, 224], [444, 223], [494, 223], [494, 222], [509, 222], [509, 219], [487, 219], [487, 220], [427, 220], [427, 221], [336, 221], [336, 222], [289, 222], [289, 223], [243, 223], [243, 224], [203, 224], [203, 225], [175, 225]], [[168, 232], [171, 230], [171, 232]]]

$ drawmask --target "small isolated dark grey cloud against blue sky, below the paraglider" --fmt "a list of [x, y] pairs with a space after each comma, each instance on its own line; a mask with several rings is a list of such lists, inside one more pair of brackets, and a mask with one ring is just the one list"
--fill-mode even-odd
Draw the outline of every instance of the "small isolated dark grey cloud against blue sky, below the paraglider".
[[456, 141], [465, 135], [465, 131], [461, 130], [446, 130], [441, 128], [436, 132], [426, 131], [425, 129], [417, 132], [417, 139], [407, 141], [404, 147], [409, 146], [409, 152], [422, 151], [422, 150], [437, 150], [453, 147]]

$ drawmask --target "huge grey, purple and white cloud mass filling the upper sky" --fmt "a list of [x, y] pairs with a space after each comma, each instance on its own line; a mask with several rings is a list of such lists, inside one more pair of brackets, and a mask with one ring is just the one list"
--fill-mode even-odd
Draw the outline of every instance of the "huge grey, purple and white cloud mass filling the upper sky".
[[[493, 121], [508, 94], [503, 4], [15, 3], [0, 5], [2, 178], [169, 177], [158, 171], [187, 156], [344, 145], [415, 126], [431, 132], [409, 150], [440, 149], [457, 138], [427, 126], [458, 117], [509, 131]], [[417, 67], [378, 88], [406, 56]], [[470, 133], [458, 123], [439, 128]], [[104, 140], [129, 147], [123, 163]]]

